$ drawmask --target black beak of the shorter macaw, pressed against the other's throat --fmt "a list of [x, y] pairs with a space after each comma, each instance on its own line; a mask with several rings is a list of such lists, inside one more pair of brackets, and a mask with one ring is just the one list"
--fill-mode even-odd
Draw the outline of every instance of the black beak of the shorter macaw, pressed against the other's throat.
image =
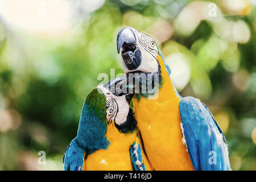
[[107, 82], [104, 87], [108, 89], [115, 96], [121, 97], [125, 95], [126, 101], [130, 104], [133, 98], [133, 90], [129, 89], [127, 77], [117, 77]]

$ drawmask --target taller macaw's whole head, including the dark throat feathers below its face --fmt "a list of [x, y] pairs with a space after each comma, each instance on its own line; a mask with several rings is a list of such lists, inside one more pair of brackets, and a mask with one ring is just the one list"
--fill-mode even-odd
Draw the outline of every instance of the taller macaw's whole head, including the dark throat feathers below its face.
[[[171, 72], [168, 65], [164, 63], [162, 53], [155, 40], [135, 28], [127, 27], [119, 31], [117, 35], [117, 52], [121, 52], [123, 71], [129, 77], [129, 82], [130, 76], [133, 78], [133, 82], [130, 82], [130, 85], [135, 88], [135, 93], [139, 93], [142, 96], [154, 95], [155, 92], [158, 92], [156, 86], [158, 88], [162, 87], [163, 75], [161, 67], [166, 68], [169, 74]], [[139, 83], [138, 85], [136, 85], [136, 81]], [[151, 90], [148, 89], [148, 85], [153, 88]], [[146, 88], [144, 92], [142, 91], [143, 87]], [[138, 94], [135, 94], [135, 98], [137, 97]]]

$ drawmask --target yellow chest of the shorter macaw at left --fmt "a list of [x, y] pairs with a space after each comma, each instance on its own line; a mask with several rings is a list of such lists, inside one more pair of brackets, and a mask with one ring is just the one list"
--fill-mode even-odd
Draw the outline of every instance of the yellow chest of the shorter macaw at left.
[[107, 150], [97, 150], [87, 156], [83, 170], [133, 170], [130, 158], [130, 146], [136, 139], [137, 131], [132, 134], [122, 134], [112, 122], [108, 126], [106, 137], [110, 144]]

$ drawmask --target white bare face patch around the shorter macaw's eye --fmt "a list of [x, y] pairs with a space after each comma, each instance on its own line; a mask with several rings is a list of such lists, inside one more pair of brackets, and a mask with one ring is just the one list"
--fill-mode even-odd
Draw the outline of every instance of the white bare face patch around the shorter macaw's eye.
[[106, 118], [108, 121], [114, 121], [117, 125], [124, 123], [130, 109], [129, 104], [126, 102], [125, 95], [120, 97], [115, 96], [103, 85], [99, 85], [98, 89], [101, 89], [106, 97]]

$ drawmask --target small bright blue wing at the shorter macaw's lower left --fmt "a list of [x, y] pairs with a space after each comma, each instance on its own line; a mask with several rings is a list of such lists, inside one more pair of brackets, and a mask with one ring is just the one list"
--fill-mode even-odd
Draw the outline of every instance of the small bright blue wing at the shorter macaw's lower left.
[[69, 144], [63, 156], [64, 170], [65, 171], [81, 171], [85, 149], [82, 148], [74, 138]]

